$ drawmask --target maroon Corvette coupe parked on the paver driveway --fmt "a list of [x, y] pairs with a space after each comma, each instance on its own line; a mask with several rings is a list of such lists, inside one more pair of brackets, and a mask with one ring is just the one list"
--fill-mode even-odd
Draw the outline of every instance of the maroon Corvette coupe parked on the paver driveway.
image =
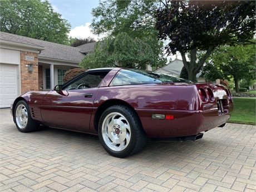
[[40, 124], [99, 135], [112, 156], [140, 151], [147, 137], [197, 140], [223, 127], [234, 109], [230, 91], [152, 71], [98, 68], [73, 77], [52, 91], [31, 91], [11, 107], [21, 132]]

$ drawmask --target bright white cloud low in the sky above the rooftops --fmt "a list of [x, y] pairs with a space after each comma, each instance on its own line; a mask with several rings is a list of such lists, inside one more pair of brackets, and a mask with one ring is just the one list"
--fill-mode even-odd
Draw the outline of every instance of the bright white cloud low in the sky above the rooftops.
[[91, 23], [85, 23], [85, 26], [78, 26], [73, 29], [71, 29], [70, 33], [68, 34], [69, 37], [72, 38], [87, 38], [87, 37], [92, 37], [96, 41], [100, 39], [99, 36], [95, 36], [91, 32], [90, 28]]

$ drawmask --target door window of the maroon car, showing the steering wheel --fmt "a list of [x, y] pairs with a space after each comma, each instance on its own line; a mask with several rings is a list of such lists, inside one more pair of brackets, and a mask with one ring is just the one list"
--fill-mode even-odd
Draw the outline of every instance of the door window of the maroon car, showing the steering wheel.
[[86, 73], [85, 76], [79, 78], [78, 80], [71, 81], [71, 84], [65, 87], [64, 90], [97, 87], [107, 73], [108, 72]]

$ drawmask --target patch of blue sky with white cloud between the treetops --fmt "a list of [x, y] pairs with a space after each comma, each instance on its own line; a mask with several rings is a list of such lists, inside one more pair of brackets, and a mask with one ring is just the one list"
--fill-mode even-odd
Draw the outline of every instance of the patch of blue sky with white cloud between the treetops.
[[91, 33], [92, 8], [99, 6], [99, 0], [48, 0], [55, 12], [60, 13], [63, 19], [71, 24], [69, 36], [72, 38], [99, 37]]

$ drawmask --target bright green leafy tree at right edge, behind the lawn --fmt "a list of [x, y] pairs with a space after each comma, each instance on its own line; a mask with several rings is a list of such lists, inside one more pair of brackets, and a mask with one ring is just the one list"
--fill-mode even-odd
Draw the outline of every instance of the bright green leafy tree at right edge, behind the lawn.
[[233, 77], [235, 91], [239, 92], [239, 80], [255, 80], [255, 45], [217, 48], [208, 58], [201, 75], [210, 80]]

